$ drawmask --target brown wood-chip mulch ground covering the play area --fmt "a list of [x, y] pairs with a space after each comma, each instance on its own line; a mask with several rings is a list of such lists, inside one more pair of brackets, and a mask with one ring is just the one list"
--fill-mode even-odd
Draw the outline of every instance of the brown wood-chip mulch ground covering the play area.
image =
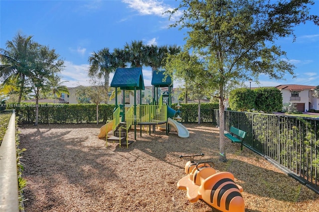
[[[227, 163], [218, 161], [219, 134], [211, 124], [184, 124], [189, 138], [172, 131], [137, 132], [137, 141], [119, 148], [97, 138], [96, 124], [22, 125], [20, 148], [27, 180], [26, 212], [216, 212], [189, 203], [176, 183], [187, 160], [204, 153], [217, 172], [229, 171], [246, 212], [319, 212], [319, 195], [240, 144], [226, 142]], [[134, 139], [134, 130], [129, 134]]]

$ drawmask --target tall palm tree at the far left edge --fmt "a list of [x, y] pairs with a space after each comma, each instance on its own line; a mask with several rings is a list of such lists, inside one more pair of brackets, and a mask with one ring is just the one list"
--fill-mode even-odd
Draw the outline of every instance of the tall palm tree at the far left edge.
[[18, 33], [12, 41], [5, 43], [6, 49], [0, 49], [0, 59], [5, 66], [1, 66], [0, 78], [8, 79], [10, 76], [18, 76], [19, 88], [18, 104], [25, 91], [25, 80], [30, 74], [34, 54], [32, 49], [39, 45], [31, 40], [32, 36], [24, 36]]

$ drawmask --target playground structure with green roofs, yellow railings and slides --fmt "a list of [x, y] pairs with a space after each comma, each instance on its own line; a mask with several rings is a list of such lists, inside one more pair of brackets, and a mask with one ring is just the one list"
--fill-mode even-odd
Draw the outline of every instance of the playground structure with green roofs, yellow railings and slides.
[[[151, 134], [151, 126], [153, 131], [155, 125], [165, 124], [166, 135], [169, 131], [169, 125], [173, 126], [177, 135], [182, 138], [187, 138], [189, 132], [185, 126], [173, 120], [176, 111], [170, 107], [170, 89], [172, 88], [171, 78], [167, 77], [163, 80], [163, 72], [158, 71], [153, 73], [152, 85], [156, 88], [153, 93], [153, 102], [151, 105], [142, 105], [142, 97], [140, 95], [140, 104], [137, 105], [136, 93], [137, 90], [145, 90], [142, 68], [117, 68], [111, 82], [111, 87], [117, 89], [120, 88], [125, 93], [126, 90], [134, 91], [134, 105], [126, 108], [125, 107], [125, 95], [123, 95], [123, 105], [118, 105], [117, 95], [115, 96], [115, 110], [113, 112], [113, 119], [108, 121], [105, 125], [100, 128], [99, 138], [106, 137], [106, 145], [108, 141], [119, 142], [120, 147], [123, 142], [126, 146], [131, 143], [128, 140], [128, 132], [134, 127], [134, 139], [136, 140], [137, 126], [140, 125], [140, 133], [142, 136], [142, 127], [149, 126], [149, 133]], [[168, 93], [162, 94], [160, 100], [158, 100], [158, 88], [168, 87]], [[166, 96], [167, 105], [163, 104], [163, 96]], [[169, 125], [168, 125], [169, 124]], [[108, 137], [108, 133], [113, 131], [113, 136]]]

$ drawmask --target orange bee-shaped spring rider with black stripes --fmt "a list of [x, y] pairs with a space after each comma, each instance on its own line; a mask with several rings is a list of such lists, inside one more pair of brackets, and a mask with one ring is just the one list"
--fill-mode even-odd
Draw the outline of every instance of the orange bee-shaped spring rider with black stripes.
[[[244, 199], [241, 195], [243, 188], [234, 182], [234, 175], [230, 172], [216, 173], [212, 161], [194, 162], [191, 155], [190, 161], [185, 164], [186, 176], [177, 183], [177, 188], [187, 191], [187, 199], [194, 203], [204, 201], [212, 208], [222, 212], [245, 212]], [[211, 164], [211, 165], [210, 165]]]

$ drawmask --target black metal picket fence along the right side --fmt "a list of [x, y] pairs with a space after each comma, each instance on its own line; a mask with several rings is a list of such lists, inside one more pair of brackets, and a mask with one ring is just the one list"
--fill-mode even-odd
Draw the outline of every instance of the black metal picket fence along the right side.
[[[219, 125], [218, 110], [213, 123]], [[246, 131], [244, 145], [319, 194], [319, 118], [225, 111], [225, 130]]]

